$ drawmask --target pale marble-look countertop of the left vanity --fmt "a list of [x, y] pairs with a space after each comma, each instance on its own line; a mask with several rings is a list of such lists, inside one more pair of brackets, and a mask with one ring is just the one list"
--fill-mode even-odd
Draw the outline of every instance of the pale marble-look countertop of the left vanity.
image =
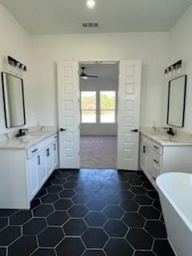
[[30, 132], [25, 136], [20, 138], [10, 138], [4, 142], [0, 142], [0, 149], [4, 150], [26, 150], [30, 146], [34, 146], [38, 142], [42, 142], [46, 138], [57, 134], [58, 130], [38, 130], [34, 132]]

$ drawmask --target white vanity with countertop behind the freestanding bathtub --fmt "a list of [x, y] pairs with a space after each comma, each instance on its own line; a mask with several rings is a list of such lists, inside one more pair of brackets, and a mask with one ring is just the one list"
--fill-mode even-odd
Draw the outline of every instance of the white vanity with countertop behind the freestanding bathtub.
[[140, 137], [140, 168], [155, 188], [156, 178], [166, 172], [192, 172], [192, 140], [190, 135], [172, 136], [142, 131]]

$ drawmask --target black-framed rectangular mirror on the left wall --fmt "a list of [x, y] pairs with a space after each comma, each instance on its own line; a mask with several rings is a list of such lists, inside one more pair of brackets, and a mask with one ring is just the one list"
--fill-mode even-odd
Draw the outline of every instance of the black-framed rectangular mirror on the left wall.
[[2, 93], [6, 128], [24, 126], [26, 115], [22, 78], [2, 72]]

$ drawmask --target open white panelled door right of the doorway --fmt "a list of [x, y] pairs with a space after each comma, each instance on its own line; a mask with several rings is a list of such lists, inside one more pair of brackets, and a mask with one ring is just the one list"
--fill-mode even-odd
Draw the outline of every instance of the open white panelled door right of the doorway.
[[118, 88], [118, 169], [138, 170], [142, 62], [121, 61]]

